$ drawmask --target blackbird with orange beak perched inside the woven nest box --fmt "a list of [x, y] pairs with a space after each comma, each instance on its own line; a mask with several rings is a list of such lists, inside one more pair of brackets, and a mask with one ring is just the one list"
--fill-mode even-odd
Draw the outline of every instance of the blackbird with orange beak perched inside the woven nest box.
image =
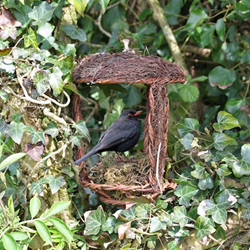
[[99, 142], [86, 155], [74, 162], [80, 165], [90, 156], [104, 151], [125, 152], [135, 146], [138, 142], [141, 128], [137, 116], [142, 111], [126, 109], [120, 117], [115, 120], [106, 132], [101, 136]]

